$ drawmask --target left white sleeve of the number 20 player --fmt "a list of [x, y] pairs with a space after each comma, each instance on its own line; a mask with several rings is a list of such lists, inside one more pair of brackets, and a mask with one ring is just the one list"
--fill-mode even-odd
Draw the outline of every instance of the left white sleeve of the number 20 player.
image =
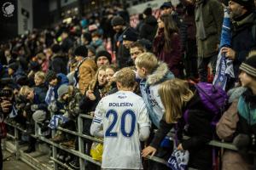
[[102, 131], [102, 118], [104, 116], [103, 102], [102, 100], [96, 106], [95, 115], [93, 117], [91, 126], [90, 126], [90, 134], [96, 137], [103, 137]]

